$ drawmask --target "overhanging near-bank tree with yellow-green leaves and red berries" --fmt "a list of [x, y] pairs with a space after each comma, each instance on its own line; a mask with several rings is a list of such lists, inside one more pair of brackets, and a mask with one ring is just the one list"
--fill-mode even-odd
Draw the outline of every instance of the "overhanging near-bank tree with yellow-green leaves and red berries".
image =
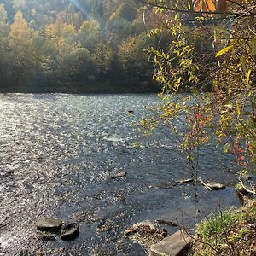
[[[160, 17], [169, 17], [150, 36], [159, 37], [166, 31], [172, 35], [165, 47], [148, 50], [154, 79], [162, 84], [163, 92], [161, 108], [142, 121], [143, 127], [167, 125], [181, 134], [179, 146], [190, 163], [205, 143], [215, 140], [224, 152], [234, 154], [243, 171], [252, 171], [256, 153], [255, 3], [198, 0], [193, 7], [178, 0], [172, 5], [170, 1], [141, 2], [156, 8]], [[212, 42], [207, 47], [203, 43], [206, 34]], [[205, 94], [209, 84], [211, 91]], [[180, 94], [184, 90], [189, 96]], [[176, 125], [180, 116], [186, 129]]]

